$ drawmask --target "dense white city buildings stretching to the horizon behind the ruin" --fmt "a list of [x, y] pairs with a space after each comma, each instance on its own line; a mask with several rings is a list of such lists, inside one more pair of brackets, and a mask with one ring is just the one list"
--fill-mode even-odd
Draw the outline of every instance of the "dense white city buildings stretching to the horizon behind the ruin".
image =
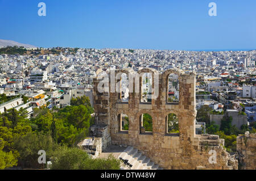
[[[93, 106], [92, 82], [100, 70], [177, 68], [197, 74], [197, 109], [207, 104], [220, 112], [223, 109], [243, 111], [250, 123], [256, 119], [255, 58], [256, 50], [31, 49], [23, 55], [0, 55], [0, 93], [29, 97], [31, 102], [26, 103], [27, 107], [67, 106], [71, 98], [83, 95], [89, 96]], [[46, 96], [34, 98], [44, 94]]]

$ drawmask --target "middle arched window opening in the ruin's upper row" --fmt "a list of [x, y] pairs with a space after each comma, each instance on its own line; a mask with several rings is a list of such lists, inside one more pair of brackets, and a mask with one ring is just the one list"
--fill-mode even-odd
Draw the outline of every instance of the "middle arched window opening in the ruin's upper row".
[[152, 102], [152, 73], [144, 73], [142, 75], [141, 102]]

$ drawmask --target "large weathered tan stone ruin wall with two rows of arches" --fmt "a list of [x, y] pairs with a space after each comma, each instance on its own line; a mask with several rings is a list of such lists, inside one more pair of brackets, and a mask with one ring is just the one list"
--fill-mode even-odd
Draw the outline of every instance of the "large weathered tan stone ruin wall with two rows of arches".
[[[115, 83], [121, 78], [118, 74], [134, 74], [132, 69], [115, 70]], [[221, 146], [224, 140], [217, 135], [195, 133], [196, 119], [196, 74], [184, 73], [182, 70], [170, 69], [158, 73], [154, 69], [139, 70], [138, 74], [152, 74], [152, 89], [159, 88], [159, 96], [148, 102], [142, 102], [142, 77], [139, 77], [139, 91], [135, 90], [133, 77], [133, 91], [129, 91], [129, 100], [122, 102], [118, 92], [111, 92], [110, 78], [105, 92], [98, 91], [98, 83], [102, 78], [94, 78], [94, 111], [95, 125], [91, 128], [96, 137], [102, 138], [102, 150], [108, 145], [130, 145], [164, 169], [237, 169], [237, 160]], [[110, 77], [110, 73], [106, 73]], [[137, 74], [137, 75], [138, 75]], [[154, 74], [159, 74], [159, 81], [154, 80]], [[168, 101], [175, 92], [168, 90], [168, 76], [176, 74], [179, 82], [179, 95], [175, 101]], [[130, 80], [129, 80], [130, 81]], [[130, 82], [129, 82], [130, 83]], [[175, 84], [177, 85], [177, 84]], [[170, 113], [179, 120], [179, 133], [167, 132], [167, 117]], [[121, 116], [120, 116], [121, 114]], [[122, 114], [129, 117], [129, 129], [122, 129]], [[145, 131], [143, 114], [152, 117], [152, 131]], [[214, 151], [210, 151], [214, 150]], [[216, 153], [216, 163], [209, 158]], [[210, 153], [210, 154], [209, 154]]]

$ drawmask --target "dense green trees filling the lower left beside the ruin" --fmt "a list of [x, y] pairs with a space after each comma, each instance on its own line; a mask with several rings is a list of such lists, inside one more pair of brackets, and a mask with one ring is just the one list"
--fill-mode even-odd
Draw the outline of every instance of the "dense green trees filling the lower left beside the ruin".
[[93, 108], [86, 96], [73, 99], [72, 104], [57, 111], [36, 108], [36, 117], [31, 119], [23, 109], [0, 113], [0, 169], [44, 169], [46, 164], [38, 163], [39, 150], [46, 151], [54, 169], [119, 169], [119, 160], [114, 157], [91, 159], [76, 148], [89, 136]]

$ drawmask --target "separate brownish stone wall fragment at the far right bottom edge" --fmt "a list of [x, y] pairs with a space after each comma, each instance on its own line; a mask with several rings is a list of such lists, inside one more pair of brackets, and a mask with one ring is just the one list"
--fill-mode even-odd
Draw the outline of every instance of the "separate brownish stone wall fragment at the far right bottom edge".
[[256, 133], [245, 132], [245, 135], [237, 136], [237, 153], [240, 169], [256, 169]]

